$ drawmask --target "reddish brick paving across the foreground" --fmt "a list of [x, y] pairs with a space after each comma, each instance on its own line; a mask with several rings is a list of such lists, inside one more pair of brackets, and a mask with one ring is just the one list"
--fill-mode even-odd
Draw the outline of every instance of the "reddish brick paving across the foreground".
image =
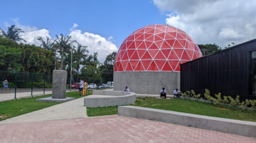
[[256, 138], [120, 116], [0, 125], [0, 142], [256, 142]]

